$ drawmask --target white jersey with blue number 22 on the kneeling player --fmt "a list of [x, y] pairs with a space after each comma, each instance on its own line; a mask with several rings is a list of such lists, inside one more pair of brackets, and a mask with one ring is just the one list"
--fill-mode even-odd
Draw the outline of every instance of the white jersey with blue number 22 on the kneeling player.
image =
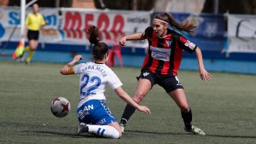
[[105, 64], [85, 62], [74, 66], [75, 74], [80, 74], [79, 107], [86, 101], [106, 100], [104, 92], [109, 84], [112, 89], [123, 85], [116, 74]]

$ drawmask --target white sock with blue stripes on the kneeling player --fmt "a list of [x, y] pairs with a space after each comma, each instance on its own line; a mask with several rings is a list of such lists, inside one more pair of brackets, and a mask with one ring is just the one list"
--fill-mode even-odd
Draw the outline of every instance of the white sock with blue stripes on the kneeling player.
[[110, 125], [87, 125], [90, 134], [101, 135], [103, 137], [118, 139], [119, 131]]

